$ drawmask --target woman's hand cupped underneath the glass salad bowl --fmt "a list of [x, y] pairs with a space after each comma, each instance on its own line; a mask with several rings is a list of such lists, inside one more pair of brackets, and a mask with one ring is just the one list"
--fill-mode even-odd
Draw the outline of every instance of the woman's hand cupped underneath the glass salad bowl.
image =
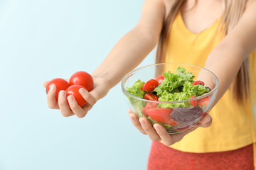
[[138, 118], [136, 114], [132, 113], [132, 111], [128, 110], [129, 117], [132, 120], [132, 124], [144, 135], [148, 135], [151, 140], [154, 141], [162, 141], [164, 145], [170, 146], [174, 145], [174, 143], [182, 140], [182, 138], [187, 135], [189, 132], [196, 130], [198, 127], [207, 128], [212, 123], [212, 118], [210, 115], [206, 114], [203, 119], [194, 125], [191, 129], [181, 132], [174, 135], [169, 135], [166, 129], [159, 125], [158, 123], [152, 126], [146, 118]]

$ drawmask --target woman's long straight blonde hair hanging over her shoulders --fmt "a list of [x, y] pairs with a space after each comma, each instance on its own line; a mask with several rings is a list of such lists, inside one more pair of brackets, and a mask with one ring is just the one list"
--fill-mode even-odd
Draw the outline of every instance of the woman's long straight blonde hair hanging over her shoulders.
[[[232, 30], [240, 20], [242, 14], [245, 11], [245, 6], [247, 0], [237, 1], [237, 0], [224, 0], [225, 10], [223, 11], [222, 17], [222, 30], [225, 35], [227, 35], [230, 30]], [[169, 13], [166, 16], [164, 26], [159, 38], [159, 45], [156, 51], [156, 63], [165, 62], [166, 50], [169, 40], [169, 34], [171, 30], [171, 24], [174, 21], [178, 11], [186, 2], [186, 0], [174, 0], [169, 9]], [[249, 57], [242, 62], [241, 67], [233, 84], [230, 86], [232, 94], [237, 101], [245, 102], [250, 97], [250, 67], [249, 67]]]

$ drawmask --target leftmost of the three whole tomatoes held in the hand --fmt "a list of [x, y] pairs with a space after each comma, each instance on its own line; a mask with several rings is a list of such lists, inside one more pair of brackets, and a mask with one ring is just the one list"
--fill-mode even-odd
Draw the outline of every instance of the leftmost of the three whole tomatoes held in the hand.
[[50, 89], [50, 84], [55, 84], [56, 86], [56, 95], [55, 95], [56, 101], [58, 101], [59, 92], [62, 90], [68, 89], [69, 87], [68, 81], [65, 81], [65, 79], [60, 79], [60, 78], [52, 79], [46, 86], [46, 94], [48, 94], [48, 91]]

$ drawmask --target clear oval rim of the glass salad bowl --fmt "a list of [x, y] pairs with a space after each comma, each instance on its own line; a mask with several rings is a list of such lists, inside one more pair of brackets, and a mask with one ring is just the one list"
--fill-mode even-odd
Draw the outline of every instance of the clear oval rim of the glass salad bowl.
[[[215, 87], [210, 91], [208, 92], [207, 94], [203, 94], [202, 96], [198, 96], [196, 98], [191, 98], [191, 99], [188, 99], [188, 100], [185, 100], [185, 101], [150, 101], [148, 99], [145, 99], [145, 98], [139, 98], [137, 96], [134, 96], [133, 94], [130, 94], [125, 88], [124, 88], [124, 81], [129, 77], [131, 76], [134, 72], [137, 72], [139, 69], [143, 69], [144, 67], [150, 67], [150, 66], [156, 66], [156, 65], [164, 65], [164, 64], [181, 64], [181, 65], [188, 65], [188, 66], [193, 66], [193, 67], [198, 67], [198, 68], [201, 68], [201, 69], [205, 69], [206, 71], [210, 72], [211, 74], [213, 74], [213, 76], [215, 77], [216, 79], [216, 85]], [[194, 65], [194, 64], [186, 64], [186, 63], [180, 63], [180, 62], [163, 62], [163, 63], [158, 63], [158, 64], [148, 64], [148, 65], [145, 65], [143, 67], [139, 67], [137, 69], [133, 69], [131, 72], [127, 73], [122, 81], [121, 81], [121, 88], [122, 88], [122, 91], [133, 97], [133, 98], [137, 98], [141, 101], [146, 101], [146, 102], [151, 102], [151, 103], [181, 103], [181, 102], [187, 102], [187, 101], [194, 101], [194, 100], [198, 100], [198, 99], [201, 99], [201, 98], [206, 98], [208, 96], [211, 96], [212, 94], [214, 94], [215, 91], [218, 91], [218, 87], [219, 87], [219, 79], [218, 77], [213, 73], [211, 72], [209, 69], [206, 69], [204, 67], [200, 67], [200, 66], [197, 66], [197, 65]]]

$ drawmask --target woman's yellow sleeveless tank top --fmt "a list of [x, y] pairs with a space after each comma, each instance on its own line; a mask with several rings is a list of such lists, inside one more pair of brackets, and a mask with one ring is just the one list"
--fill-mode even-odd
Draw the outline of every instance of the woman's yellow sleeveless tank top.
[[[181, 12], [174, 19], [169, 37], [165, 62], [181, 62], [204, 67], [206, 58], [222, 38], [218, 36], [220, 18], [212, 26], [195, 34], [186, 28]], [[241, 106], [231, 96], [230, 90], [210, 111], [213, 123], [209, 128], [198, 128], [171, 145], [183, 152], [223, 152], [245, 147], [256, 142], [256, 52], [250, 55], [252, 100]]]

